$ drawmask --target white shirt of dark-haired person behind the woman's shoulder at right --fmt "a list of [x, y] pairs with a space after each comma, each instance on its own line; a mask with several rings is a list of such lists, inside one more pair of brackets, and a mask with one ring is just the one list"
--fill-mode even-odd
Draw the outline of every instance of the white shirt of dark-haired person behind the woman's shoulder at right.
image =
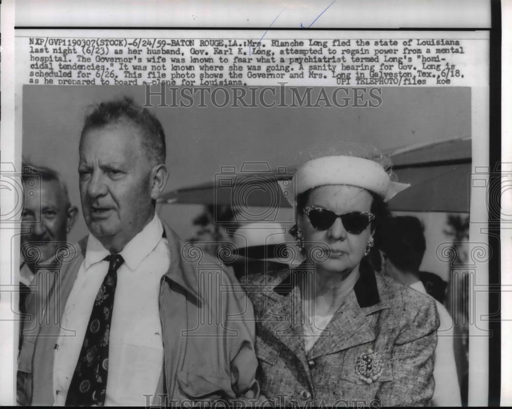
[[[410, 284], [409, 287], [426, 294], [421, 281]], [[432, 397], [433, 406], [460, 406], [460, 389], [455, 366], [453, 349], [453, 320], [446, 308], [436, 301], [439, 314], [439, 329], [437, 330], [437, 347], [434, 352], [434, 381], [436, 388]]]

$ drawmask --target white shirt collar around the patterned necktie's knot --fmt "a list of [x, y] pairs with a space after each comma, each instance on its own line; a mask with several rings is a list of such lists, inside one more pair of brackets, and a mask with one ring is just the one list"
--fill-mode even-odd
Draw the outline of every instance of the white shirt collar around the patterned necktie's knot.
[[[151, 222], [148, 223], [142, 231], [137, 233], [119, 253], [122, 255], [124, 263], [130, 270], [135, 271], [142, 260], [155, 249], [162, 238], [162, 233], [162, 223], [155, 213]], [[103, 261], [109, 254], [109, 250], [105, 249], [100, 241], [90, 233], [84, 259], [84, 267], [86, 270], [93, 264]]]

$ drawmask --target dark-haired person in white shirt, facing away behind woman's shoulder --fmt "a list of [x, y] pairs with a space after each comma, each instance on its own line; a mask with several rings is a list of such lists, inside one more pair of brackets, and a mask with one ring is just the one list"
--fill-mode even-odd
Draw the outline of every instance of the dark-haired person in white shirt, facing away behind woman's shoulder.
[[[420, 281], [419, 267], [425, 253], [421, 222], [411, 216], [393, 217], [379, 232], [383, 255], [382, 271], [388, 277], [426, 294]], [[434, 406], [460, 406], [461, 396], [454, 356], [452, 317], [436, 300], [440, 326], [434, 353]]]

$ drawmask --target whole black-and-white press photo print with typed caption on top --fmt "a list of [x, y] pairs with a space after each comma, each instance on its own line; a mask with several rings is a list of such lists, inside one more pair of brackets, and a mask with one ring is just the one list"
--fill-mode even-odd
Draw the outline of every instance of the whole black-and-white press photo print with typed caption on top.
[[2, 404], [508, 402], [490, 17], [304, 7], [17, 24]]

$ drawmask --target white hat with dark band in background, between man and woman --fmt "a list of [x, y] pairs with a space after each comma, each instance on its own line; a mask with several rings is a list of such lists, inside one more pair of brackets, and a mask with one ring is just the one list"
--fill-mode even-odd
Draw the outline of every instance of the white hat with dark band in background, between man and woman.
[[[250, 257], [251, 252], [257, 252], [260, 256], [253, 258], [286, 264], [302, 262], [302, 259], [297, 259], [295, 239], [280, 223], [245, 224], [233, 233], [232, 240], [239, 255], [242, 256]], [[274, 247], [278, 245], [283, 247], [281, 249]], [[285, 249], [287, 251], [284, 251]]]

